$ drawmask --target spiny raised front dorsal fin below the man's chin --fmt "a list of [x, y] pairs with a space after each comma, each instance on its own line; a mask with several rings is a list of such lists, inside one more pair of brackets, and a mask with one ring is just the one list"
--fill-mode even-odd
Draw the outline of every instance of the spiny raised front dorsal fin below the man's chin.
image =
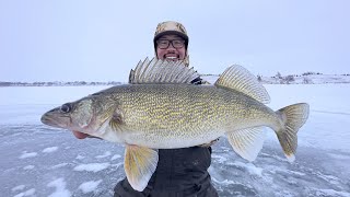
[[188, 83], [199, 73], [194, 68], [188, 68], [183, 61], [168, 61], [153, 58], [139, 61], [135, 70], [130, 71], [130, 84], [144, 83]]

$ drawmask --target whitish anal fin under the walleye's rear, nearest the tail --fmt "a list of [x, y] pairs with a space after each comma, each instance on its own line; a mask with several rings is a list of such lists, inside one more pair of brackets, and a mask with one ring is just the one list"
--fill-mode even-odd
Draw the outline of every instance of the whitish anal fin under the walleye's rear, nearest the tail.
[[253, 127], [230, 131], [226, 136], [233, 150], [252, 162], [260, 152], [266, 134], [264, 127]]

